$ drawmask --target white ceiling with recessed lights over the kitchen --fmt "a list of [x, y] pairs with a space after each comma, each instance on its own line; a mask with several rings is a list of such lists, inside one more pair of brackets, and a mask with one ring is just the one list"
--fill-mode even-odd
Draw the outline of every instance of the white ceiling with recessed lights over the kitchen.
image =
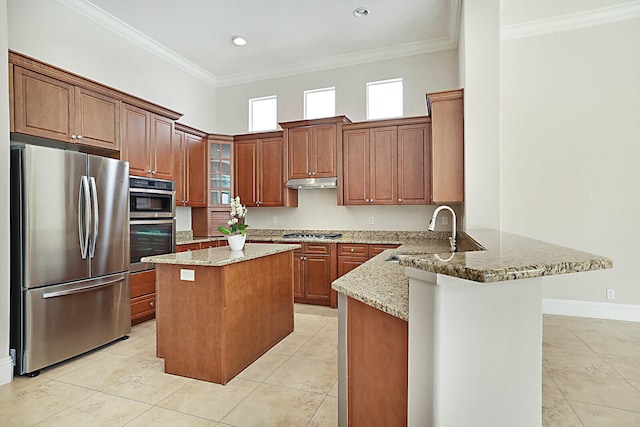
[[215, 86], [454, 49], [460, 21], [460, 0], [58, 2]]

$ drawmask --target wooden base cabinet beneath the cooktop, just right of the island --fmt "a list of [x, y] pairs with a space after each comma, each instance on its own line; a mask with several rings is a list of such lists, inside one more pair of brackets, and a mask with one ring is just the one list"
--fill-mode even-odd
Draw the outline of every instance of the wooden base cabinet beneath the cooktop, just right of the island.
[[331, 282], [337, 277], [335, 244], [300, 243], [293, 252], [293, 297], [303, 304], [337, 307]]

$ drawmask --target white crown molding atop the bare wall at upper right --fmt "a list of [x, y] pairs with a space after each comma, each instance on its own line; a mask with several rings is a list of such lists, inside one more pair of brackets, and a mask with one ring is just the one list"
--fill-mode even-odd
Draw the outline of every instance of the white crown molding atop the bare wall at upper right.
[[536, 37], [561, 31], [609, 24], [640, 17], [640, 1], [589, 10], [550, 19], [506, 25], [500, 28], [500, 40]]

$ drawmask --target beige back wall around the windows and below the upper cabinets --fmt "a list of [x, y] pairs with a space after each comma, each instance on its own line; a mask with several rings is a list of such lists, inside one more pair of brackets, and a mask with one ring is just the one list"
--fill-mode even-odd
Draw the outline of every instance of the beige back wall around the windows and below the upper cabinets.
[[[222, 133], [248, 131], [250, 98], [278, 96], [278, 120], [302, 120], [303, 92], [335, 86], [336, 114], [352, 121], [366, 120], [366, 83], [395, 77], [403, 78], [405, 116], [425, 115], [425, 94], [458, 88], [456, 50], [381, 61], [335, 70], [217, 89], [216, 130]], [[254, 208], [247, 220], [256, 228], [316, 228], [365, 230], [426, 230], [433, 206], [362, 206], [337, 205], [337, 190], [299, 192], [297, 208]], [[455, 207], [459, 214], [460, 206]], [[277, 217], [274, 224], [273, 217]], [[369, 218], [373, 217], [373, 224]], [[186, 227], [180, 213], [181, 226]], [[445, 227], [447, 229], [447, 227]]]

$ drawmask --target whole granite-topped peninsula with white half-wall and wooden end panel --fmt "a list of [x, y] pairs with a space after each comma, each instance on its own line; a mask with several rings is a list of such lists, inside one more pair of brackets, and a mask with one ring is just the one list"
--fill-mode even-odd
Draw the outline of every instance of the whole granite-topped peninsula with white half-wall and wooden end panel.
[[541, 425], [544, 277], [612, 261], [510, 233], [469, 235], [473, 250], [404, 245], [333, 283], [340, 425]]

